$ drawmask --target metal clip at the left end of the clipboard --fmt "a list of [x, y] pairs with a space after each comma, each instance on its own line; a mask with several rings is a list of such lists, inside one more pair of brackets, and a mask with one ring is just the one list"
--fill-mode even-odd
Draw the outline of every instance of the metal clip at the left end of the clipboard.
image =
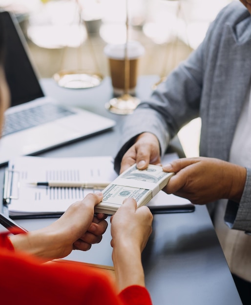
[[[14, 185], [14, 179], [15, 182], [17, 179], [15, 185]], [[4, 203], [10, 204], [11, 199], [19, 199], [19, 190], [20, 190], [20, 172], [11, 169], [6, 169], [4, 173], [4, 185], [3, 185]]]

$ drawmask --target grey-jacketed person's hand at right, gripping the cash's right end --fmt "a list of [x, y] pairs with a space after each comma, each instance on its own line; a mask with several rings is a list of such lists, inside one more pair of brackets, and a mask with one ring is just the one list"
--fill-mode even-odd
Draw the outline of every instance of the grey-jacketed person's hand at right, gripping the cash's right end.
[[200, 205], [222, 198], [240, 202], [247, 174], [244, 167], [206, 157], [177, 159], [163, 170], [176, 173], [163, 191]]

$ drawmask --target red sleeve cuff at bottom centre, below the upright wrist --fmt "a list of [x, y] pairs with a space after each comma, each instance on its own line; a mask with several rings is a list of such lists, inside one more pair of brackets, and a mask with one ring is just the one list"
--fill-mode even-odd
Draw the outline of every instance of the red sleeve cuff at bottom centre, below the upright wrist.
[[143, 286], [126, 287], [119, 296], [126, 305], [152, 305], [150, 294]]

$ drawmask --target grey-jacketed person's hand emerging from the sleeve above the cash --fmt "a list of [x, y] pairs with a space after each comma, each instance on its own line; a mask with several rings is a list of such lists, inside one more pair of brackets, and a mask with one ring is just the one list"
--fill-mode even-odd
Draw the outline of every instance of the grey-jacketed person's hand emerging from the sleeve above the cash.
[[135, 163], [138, 169], [145, 170], [149, 163], [157, 165], [160, 162], [160, 145], [157, 137], [152, 133], [141, 133], [134, 145], [125, 152], [120, 173]]

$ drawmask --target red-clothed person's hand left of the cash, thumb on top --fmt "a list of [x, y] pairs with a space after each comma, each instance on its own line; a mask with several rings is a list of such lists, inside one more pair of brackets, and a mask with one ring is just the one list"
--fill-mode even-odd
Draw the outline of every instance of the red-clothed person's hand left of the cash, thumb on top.
[[94, 207], [102, 198], [102, 193], [90, 193], [48, 227], [11, 236], [14, 248], [43, 260], [65, 257], [73, 249], [88, 250], [101, 241], [107, 228], [104, 214], [94, 216]]

